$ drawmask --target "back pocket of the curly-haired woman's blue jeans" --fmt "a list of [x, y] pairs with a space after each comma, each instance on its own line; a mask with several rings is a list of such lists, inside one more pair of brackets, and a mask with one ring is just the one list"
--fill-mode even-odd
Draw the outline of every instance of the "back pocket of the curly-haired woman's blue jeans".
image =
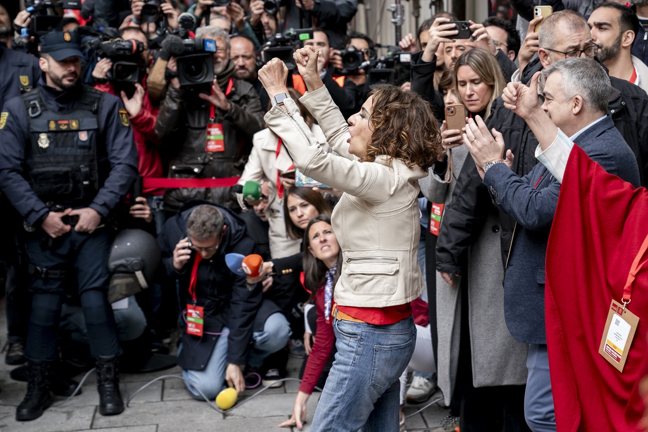
[[413, 341], [400, 345], [375, 345], [369, 384], [380, 391], [386, 391], [398, 380], [402, 371], [410, 363]]

